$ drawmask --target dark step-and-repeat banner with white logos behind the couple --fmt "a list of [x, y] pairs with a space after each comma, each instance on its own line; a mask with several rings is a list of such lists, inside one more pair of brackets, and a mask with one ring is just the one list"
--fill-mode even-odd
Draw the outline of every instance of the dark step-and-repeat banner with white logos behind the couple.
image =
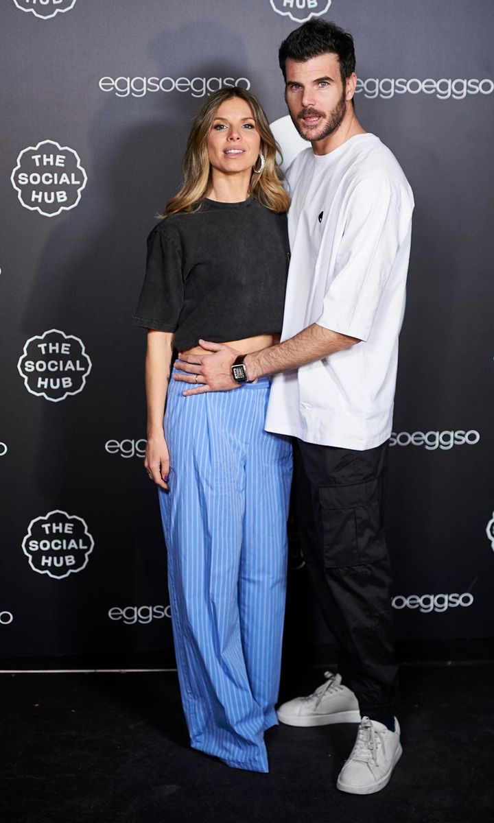
[[398, 638], [492, 635], [491, 0], [2, 0], [0, 15], [0, 654], [173, 665], [130, 325], [145, 240], [205, 96], [242, 86], [286, 117], [277, 48], [314, 16], [352, 31], [357, 114], [417, 202], [390, 441]]

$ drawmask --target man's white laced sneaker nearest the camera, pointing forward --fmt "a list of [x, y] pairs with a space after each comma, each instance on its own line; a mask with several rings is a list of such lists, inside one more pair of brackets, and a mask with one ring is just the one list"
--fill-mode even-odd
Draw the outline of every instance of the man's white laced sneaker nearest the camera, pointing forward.
[[352, 754], [341, 770], [337, 786], [350, 794], [373, 794], [389, 783], [402, 756], [398, 720], [394, 732], [377, 720], [362, 718]]

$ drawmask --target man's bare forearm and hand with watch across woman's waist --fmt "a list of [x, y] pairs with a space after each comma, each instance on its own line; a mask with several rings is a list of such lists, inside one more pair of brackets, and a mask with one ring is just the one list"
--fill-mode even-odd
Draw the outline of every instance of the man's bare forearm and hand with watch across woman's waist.
[[[247, 377], [252, 382], [267, 374], [298, 369], [301, 365], [321, 360], [335, 351], [349, 349], [358, 342], [360, 340], [357, 337], [347, 337], [346, 334], [332, 332], [328, 328], [318, 326], [317, 323], [312, 323], [295, 337], [278, 343], [277, 346], [270, 346], [245, 355]], [[179, 356], [179, 360], [175, 362], [175, 369], [184, 372], [183, 375], [176, 374], [175, 380], [201, 384], [197, 385], [197, 388], [188, 389], [184, 394], [225, 392], [231, 388], [238, 388], [240, 384], [235, 383], [231, 376], [231, 365], [235, 358], [243, 352], [234, 351], [222, 343], [210, 343], [203, 340], [199, 343], [212, 354], [183, 355]]]

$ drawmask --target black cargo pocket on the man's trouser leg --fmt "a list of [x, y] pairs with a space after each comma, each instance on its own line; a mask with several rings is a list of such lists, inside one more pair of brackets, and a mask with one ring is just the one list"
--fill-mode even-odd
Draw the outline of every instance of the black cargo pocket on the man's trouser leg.
[[387, 555], [381, 523], [380, 477], [352, 486], [319, 488], [324, 565], [373, 563]]

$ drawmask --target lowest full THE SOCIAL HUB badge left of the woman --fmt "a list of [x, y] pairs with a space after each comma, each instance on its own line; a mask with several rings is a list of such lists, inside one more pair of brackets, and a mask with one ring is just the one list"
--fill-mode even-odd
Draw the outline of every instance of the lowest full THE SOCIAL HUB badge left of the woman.
[[55, 579], [85, 569], [93, 546], [86, 521], [59, 509], [31, 520], [22, 541], [31, 569]]

